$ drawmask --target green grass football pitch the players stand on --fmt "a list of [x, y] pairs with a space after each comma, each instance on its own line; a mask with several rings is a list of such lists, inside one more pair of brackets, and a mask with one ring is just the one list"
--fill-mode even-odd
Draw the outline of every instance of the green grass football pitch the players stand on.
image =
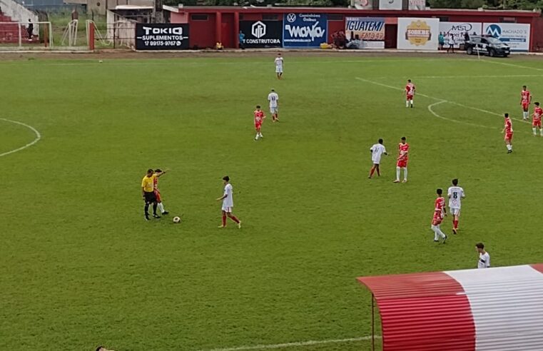
[[[277, 81], [273, 54], [1, 62], [0, 117], [42, 138], [0, 157], [0, 348], [365, 337], [371, 302], [358, 276], [474, 268], [478, 241], [494, 266], [541, 262], [543, 138], [514, 120], [508, 155], [499, 116], [522, 118], [524, 84], [543, 102], [541, 63], [285, 54]], [[407, 78], [415, 108], [405, 108]], [[252, 111], [268, 111], [270, 88], [281, 121], [268, 116], [254, 141]], [[409, 182], [393, 184], [402, 136]], [[34, 137], [0, 120], [0, 153]], [[391, 155], [368, 180], [377, 138]], [[171, 169], [160, 180], [171, 214], [151, 223], [140, 194], [148, 167]], [[223, 175], [241, 230], [217, 228]], [[461, 231], [435, 245], [435, 189], [452, 178], [467, 193]], [[451, 234], [450, 218], [442, 228]]]

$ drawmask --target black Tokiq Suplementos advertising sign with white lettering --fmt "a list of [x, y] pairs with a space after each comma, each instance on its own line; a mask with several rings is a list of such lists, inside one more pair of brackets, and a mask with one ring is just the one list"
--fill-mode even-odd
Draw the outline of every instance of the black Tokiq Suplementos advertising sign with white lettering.
[[136, 50], [188, 49], [188, 24], [136, 24]]

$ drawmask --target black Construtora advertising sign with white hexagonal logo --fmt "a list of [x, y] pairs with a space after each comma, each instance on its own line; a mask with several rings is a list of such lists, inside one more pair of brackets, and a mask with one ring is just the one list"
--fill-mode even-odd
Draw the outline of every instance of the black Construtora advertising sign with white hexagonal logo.
[[240, 21], [246, 48], [280, 48], [283, 46], [283, 21]]

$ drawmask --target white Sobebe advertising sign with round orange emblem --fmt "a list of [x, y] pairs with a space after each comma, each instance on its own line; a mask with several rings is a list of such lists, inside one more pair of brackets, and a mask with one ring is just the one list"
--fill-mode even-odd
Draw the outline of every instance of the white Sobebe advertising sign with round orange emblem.
[[437, 50], [439, 19], [398, 19], [397, 48], [404, 50]]

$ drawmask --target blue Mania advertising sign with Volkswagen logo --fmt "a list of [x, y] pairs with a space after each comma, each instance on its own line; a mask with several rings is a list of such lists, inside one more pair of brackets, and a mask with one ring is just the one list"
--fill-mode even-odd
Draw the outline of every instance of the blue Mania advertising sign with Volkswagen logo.
[[318, 48], [328, 39], [328, 16], [325, 14], [285, 14], [283, 46]]

